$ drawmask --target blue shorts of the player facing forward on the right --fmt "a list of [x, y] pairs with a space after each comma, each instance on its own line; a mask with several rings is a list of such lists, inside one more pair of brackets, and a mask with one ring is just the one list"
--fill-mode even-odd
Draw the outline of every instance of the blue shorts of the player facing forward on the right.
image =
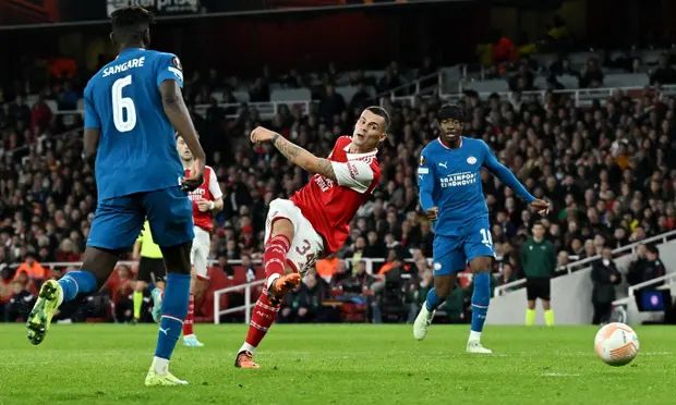
[[434, 235], [434, 275], [449, 275], [481, 256], [495, 257], [488, 217], [468, 221], [454, 236]]

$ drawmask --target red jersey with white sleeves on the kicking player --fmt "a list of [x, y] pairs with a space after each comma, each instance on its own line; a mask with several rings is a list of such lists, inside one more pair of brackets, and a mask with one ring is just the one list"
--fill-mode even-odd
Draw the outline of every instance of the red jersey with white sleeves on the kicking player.
[[349, 136], [340, 136], [328, 157], [337, 182], [315, 174], [290, 198], [324, 237], [325, 255], [342, 247], [350, 234], [350, 221], [369, 200], [381, 179], [377, 149], [369, 154], [349, 154], [351, 144]]

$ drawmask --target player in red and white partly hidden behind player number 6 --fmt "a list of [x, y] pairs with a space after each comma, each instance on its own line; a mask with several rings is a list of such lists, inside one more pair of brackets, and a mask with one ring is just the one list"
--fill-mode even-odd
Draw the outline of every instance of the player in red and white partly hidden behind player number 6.
[[[183, 163], [185, 175], [190, 175], [193, 164], [193, 154], [180, 135], [177, 135], [176, 147]], [[188, 315], [183, 322], [183, 345], [189, 347], [202, 347], [204, 344], [197, 340], [193, 331], [195, 317], [195, 296], [201, 297], [208, 287], [207, 259], [212, 247], [210, 234], [214, 230], [213, 218], [224, 209], [224, 199], [214, 169], [204, 168], [204, 183], [188, 195], [193, 204], [193, 222], [195, 238], [190, 250], [190, 261], [193, 265], [193, 279], [190, 284], [190, 302]], [[197, 299], [198, 300], [198, 299]]]

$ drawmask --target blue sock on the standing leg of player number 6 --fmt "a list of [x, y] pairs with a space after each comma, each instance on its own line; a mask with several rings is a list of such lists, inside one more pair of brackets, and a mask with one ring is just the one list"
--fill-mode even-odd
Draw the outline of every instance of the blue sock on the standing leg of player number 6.
[[162, 317], [157, 334], [155, 356], [169, 359], [183, 329], [190, 297], [190, 274], [167, 274], [167, 286], [162, 299]]

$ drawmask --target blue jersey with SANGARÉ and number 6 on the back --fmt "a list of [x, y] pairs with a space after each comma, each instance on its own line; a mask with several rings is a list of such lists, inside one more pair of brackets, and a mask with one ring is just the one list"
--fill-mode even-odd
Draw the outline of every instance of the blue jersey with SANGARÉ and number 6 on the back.
[[100, 130], [96, 156], [98, 199], [178, 185], [183, 168], [159, 86], [183, 86], [171, 53], [128, 48], [87, 83], [85, 128]]

